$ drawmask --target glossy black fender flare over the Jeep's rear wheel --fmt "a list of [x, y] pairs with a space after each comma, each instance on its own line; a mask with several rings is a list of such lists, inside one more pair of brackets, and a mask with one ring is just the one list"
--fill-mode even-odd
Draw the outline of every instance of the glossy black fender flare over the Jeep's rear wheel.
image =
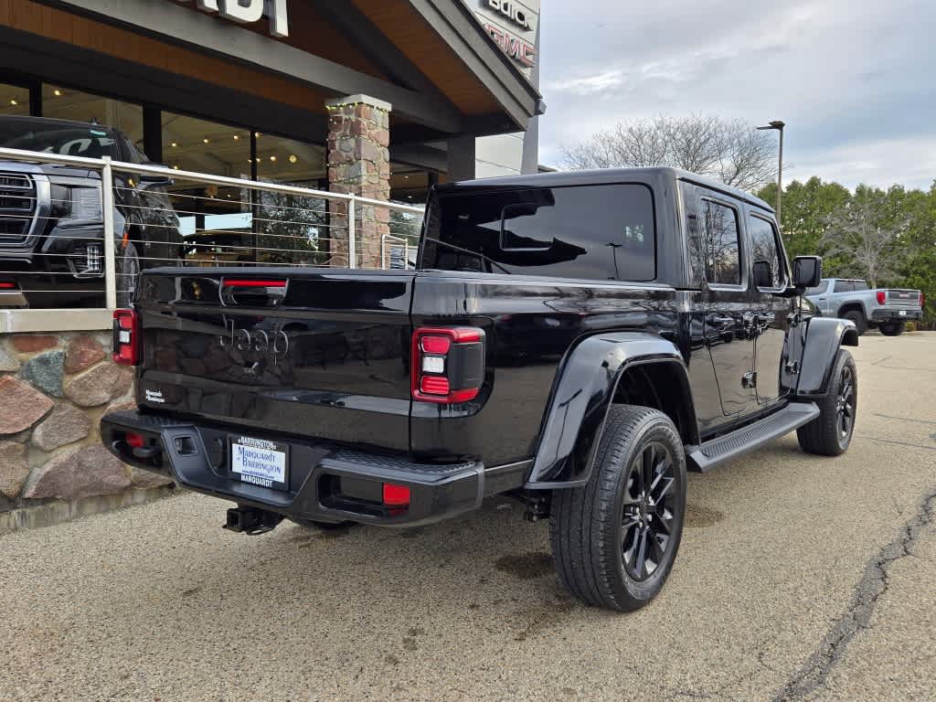
[[[685, 360], [675, 344], [660, 336], [634, 331], [601, 333], [585, 338], [566, 354], [549, 396], [525, 488], [554, 490], [588, 482], [618, 383], [628, 369], [646, 363], [671, 363], [679, 368], [692, 402]], [[695, 420], [693, 407], [689, 414]], [[572, 457], [577, 461], [568, 461]]]

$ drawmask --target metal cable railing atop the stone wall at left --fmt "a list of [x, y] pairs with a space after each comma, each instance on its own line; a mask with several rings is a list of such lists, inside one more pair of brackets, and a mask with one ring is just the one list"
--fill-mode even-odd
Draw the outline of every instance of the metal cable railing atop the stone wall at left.
[[[30, 164], [93, 170], [99, 187]], [[0, 331], [107, 328], [103, 313], [158, 265], [408, 268], [422, 215], [301, 185], [0, 148]]]

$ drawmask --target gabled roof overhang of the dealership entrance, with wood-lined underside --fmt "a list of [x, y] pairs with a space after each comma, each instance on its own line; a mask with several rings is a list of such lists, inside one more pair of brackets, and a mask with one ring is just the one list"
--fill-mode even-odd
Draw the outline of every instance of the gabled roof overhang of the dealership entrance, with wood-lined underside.
[[[291, 39], [302, 33], [296, 22], [291, 22], [290, 40], [284, 40], [197, 11], [194, 4], [186, 7], [170, 0], [36, 0], [275, 74], [314, 87], [328, 97], [366, 94], [385, 100], [400, 120], [401, 136], [405, 134], [409, 141], [519, 131], [542, 109], [533, 85], [486, 35], [461, 0], [288, 1], [325, 18], [329, 27], [369, 58], [374, 69], [356, 70], [341, 63], [339, 56], [316, 55], [292, 45]], [[394, 11], [388, 15], [391, 5]], [[412, 44], [444, 47], [438, 51], [445, 54], [440, 59], [453, 64], [455, 78], [431, 77], [425, 62], [414, 59], [409, 47], [401, 46], [399, 32], [393, 30], [402, 29], [412, 37]], [[466, 96], [453, 97], [453, 81], [461, 81], [454, 87], [463, 87], [461, 92]], [[478, 99], [478, 95], [485, 99]], [[484, 113], [472, 113], [475, 105], [482, 105]], [[324, 111], [324, 106], [310, 105], [308, 110]]]

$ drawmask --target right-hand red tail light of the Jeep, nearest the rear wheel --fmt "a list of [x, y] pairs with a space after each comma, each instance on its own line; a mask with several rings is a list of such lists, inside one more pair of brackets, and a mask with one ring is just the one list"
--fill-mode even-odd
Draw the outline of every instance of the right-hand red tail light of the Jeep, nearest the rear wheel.
[[484, 383], [484, 331], [422, 327], [413, 332], [413, 398], [453, 404], [477, 397]]

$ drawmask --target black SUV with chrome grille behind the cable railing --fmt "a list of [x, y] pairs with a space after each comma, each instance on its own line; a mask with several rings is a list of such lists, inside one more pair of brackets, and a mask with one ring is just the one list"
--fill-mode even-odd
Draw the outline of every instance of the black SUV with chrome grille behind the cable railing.
[[[149, 159], [99, 124], [0, 116], [0, 147], [134, 164]], [[139, 271], [182, 254], [179, 218], [161, 176], [114, 171], [118, 304]], [[0, 159], [0, 306], [99, 306], [104, 290], [101, 180], [93, 168]]]

